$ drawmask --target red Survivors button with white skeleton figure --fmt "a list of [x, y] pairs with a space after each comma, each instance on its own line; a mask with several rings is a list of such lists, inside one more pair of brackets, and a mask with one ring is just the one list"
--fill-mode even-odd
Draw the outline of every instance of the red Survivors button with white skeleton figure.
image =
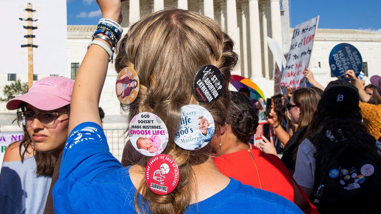
[[180, 178], [176, 162], [164, 154], [156, 155], [148, 161], [145, 176], [148, 188], [158, 195], [171, 193]]

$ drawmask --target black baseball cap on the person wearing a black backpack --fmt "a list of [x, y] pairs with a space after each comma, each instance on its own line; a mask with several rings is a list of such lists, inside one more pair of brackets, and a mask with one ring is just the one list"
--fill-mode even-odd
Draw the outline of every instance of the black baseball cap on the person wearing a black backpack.
[[346, 117], [359, 109], [359, 90], [346, 80], [335, 80], [328, 83], [320, 102], [335, 115]]

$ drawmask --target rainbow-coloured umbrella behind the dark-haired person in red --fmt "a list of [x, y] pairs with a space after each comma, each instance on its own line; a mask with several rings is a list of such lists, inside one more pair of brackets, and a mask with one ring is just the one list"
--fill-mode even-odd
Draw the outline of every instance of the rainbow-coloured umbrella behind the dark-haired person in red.
[[241, 88], [247, 88], [250, 91], [249, 99], [258, 100], [259, 98], [263, 98], [266, 101], [262, 90], [250, 79], [241, 77], [240, 75], [232, 75], [231, 83], [238, 91]]

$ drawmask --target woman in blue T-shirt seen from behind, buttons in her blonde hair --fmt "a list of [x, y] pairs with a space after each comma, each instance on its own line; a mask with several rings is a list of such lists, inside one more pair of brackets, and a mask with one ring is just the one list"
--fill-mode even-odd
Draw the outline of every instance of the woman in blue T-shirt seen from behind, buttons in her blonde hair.
[[[120, 0], [97, 2], [104, 18], [121, 22]], [[112, 44], [107, 45], [110, 48]], [[53, 190], [56, 213], [213, 214], [253, 210], [301, 213], [295, 204], [279, 195], [221, 174], [213, 163], [210, 144], [188, 151], [174, 143], [181, 107], [200, 105], [192, 84], [197, 70], [208, 64], [215, 65], [223, 74], [219, 99], [202, 104], [213, 116], [216, 127], [213, 137], [218, 138], [231, 102], [228, 84], [237, 58], [232, 40], [217, 22], [187, 10], [150, 14], [131, 26], [119, 41], [115, 70], [133, 67], [139, 76], [136, 100], [128, 106], [122, 104], [122, 109], [128, 110], [130, 121], [141, 112], [154, 113], [163, 120], [169, 140], [162, 154], [173, 158], [179, 168], [176, 188], [166, 195], [158, 195], [145, 181], [151, 179], [145, 174], [150, 157], [142, 157], [138, 164], [123, 168], [109, 152], [98, 114], [109, 55], [102, 46], [91, 45], [74, 83], [71, 133], [62, 155], [60, 178]], [[88, 84], [90, 75], [93, 81]], [[85, 138], [74, 143], [78, 134]]]

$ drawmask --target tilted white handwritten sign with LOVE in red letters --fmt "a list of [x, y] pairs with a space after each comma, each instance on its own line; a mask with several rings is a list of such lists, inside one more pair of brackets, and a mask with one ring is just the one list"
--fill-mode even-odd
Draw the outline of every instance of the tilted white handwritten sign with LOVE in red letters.
[[304, 73], [309, 66], [318, 22], [319, 16], [294, 28], [287, 64], [280, 81], [280, 86], [285, 93], [287, 93], [287, 88], [299, 89], [306, 87]]

